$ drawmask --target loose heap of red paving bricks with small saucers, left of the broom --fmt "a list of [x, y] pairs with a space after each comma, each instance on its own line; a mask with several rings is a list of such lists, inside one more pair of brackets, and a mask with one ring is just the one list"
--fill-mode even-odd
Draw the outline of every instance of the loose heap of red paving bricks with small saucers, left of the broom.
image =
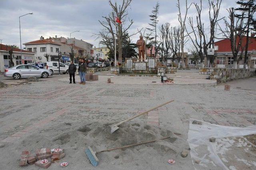
[[[55, 160], [60, 160], [65, 157], [63, 149], [60, 152], [52, 152], [50, 148], [42, 148], [36, 150], [36, 156], [32, 156], [28, 150], [22, 151], [20, 166], [32, 165], [35, 163], [40, 168], [48, 168]], [[41, 161], [47, 159], [46, 164], [41, 164]]]

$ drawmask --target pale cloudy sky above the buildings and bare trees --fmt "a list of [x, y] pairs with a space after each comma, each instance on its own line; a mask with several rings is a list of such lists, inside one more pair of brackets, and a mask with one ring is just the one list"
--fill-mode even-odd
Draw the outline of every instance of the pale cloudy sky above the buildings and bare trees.
[[[112, 0], [114, 1], [114, 0]], [[203, 0], [204, 22], [208, 23], [208, 1]], [[121, 2], [121, 0], [117, 0]], [[128, 9], [129, 18], [134, 24], [129, 30], [136, 32], [137, 28], [148, 27], [149, 17], [157, 0], [133, 0]], [[159, 26], [170, 22], [172, 26], [178, 25], [178, 9], [176, 0], [158, 0], [160, 3]], [[188, 0], [198, 2], [198, 0]], [[180, 0], [185, 9], [185, 0]], [[226, 8], [236, 6], [236, 0], [222, 0], [220, 17], [227, 16]], [[98, 46], [98, 40], [92, 35], [102, 28], [98, 20], [111, 12], [108, 0], [0, 0], [0, 39], [2, 44], [16, 44], [20, 46], [19, 16], [32, 12], [32, 15], [21, 17], [22, 44], [38, 40], [40, 36], [72, 37], [82, 39]], [[196, 10], [192, 5], [188, 16], [196, 17]], [[207, 28], [207, 27], [206, 27]], [[132, 37], [135, 42], [138, 35]], [[187, 44], [189, 46], [189, 42]], [[24, 47], [22, 45], [22, 47]]]

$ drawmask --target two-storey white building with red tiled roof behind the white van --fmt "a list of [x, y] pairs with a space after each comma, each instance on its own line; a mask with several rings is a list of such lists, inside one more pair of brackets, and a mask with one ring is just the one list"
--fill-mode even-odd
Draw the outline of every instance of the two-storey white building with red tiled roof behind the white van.
[[46, 62], [47, 59], [44, 57], [44, 54], [49, 54], [49, 61], [58, 61], [58, 49], [60, 44], [52, 41], [46, 40], [44, 37], [40, 37], [40, 40], [35, 40], [31, 42], [24, 43], [26, 50], [36, 53], [35, 62]]

